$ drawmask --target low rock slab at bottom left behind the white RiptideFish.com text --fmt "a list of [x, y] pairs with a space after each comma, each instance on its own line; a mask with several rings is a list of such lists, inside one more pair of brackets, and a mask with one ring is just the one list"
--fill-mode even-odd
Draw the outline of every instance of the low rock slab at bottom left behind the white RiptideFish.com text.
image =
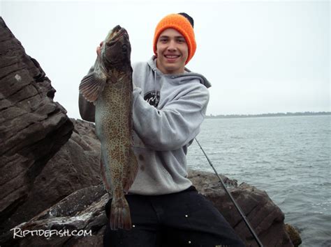
[[[45, 234], [41, 237], [27, 234], [27, 237], [22, 239], [18, 237], [14, 239], [13, 230], [3, 235], [0, 242], [4, 246], [102, 246], [103, 231], [107, 223], [104, 213], [107, 201], [108, 194], [105, 193], [102, 185], [80, 189], [32, 218], [31, 221], [16, 226], [17, 229], [30, 232], [57, 230], [59, 235], [47, 238]], [[69, 234], [73, 230], [77, 230], [78, 234], [86, 230], [86, 234], [71, 237]], [[20, 234], [22, 235], [22, 232]], [[17, 236], [20, 234], [17, 230]]]

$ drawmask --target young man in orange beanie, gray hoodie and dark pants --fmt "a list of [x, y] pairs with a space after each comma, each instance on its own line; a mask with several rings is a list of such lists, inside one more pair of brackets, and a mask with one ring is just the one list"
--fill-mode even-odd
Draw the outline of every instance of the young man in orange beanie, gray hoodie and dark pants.
[[[133, 228], [113, 231], [108, 224], [104, 246], [244, 246], [187, 178], [186, 152], [200, 132], [210, 86], [185, 67], [196, 51], [193, 19], [185, 13], [165, 16], [153, 44], [154, 56], [133, 65], [133, 140], [140, 168], [126, 195]], [[94, 109], [82, 97], [80, 113], [94, 121]]]

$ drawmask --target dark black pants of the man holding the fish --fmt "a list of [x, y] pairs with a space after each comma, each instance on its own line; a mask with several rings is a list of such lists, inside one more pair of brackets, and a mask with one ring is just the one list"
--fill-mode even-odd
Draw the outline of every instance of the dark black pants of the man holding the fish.
[[[127, 195], [132, 230], [110, 230], [104, 246], [244, 246], [225, 218], [191, 186], [163, 196]], [[105, 206], [110, 214], [109, 201]]]

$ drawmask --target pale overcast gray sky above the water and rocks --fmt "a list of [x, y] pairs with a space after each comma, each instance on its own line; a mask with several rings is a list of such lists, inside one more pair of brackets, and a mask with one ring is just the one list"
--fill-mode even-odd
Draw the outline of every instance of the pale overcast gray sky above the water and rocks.
[[0, 1], [71, 118], [80, 118], [80, 80], [110, 29], [124, 26], [131, 61], [147, 61], [157, 22], [179, 12], [195, 21], [187, 67], [212, 83], [208, 115], [330, 111], [330, 1]]

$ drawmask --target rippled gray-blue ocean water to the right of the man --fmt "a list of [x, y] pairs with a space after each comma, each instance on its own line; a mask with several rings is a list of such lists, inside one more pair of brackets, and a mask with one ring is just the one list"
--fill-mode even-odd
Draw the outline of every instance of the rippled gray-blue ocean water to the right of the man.
[[[230, 179], [266, 191], [302, 247], [331, 246], [331, 116], [206, 119], [197, 136]], [[194, 141], [189, 168], [213, 172]]]

